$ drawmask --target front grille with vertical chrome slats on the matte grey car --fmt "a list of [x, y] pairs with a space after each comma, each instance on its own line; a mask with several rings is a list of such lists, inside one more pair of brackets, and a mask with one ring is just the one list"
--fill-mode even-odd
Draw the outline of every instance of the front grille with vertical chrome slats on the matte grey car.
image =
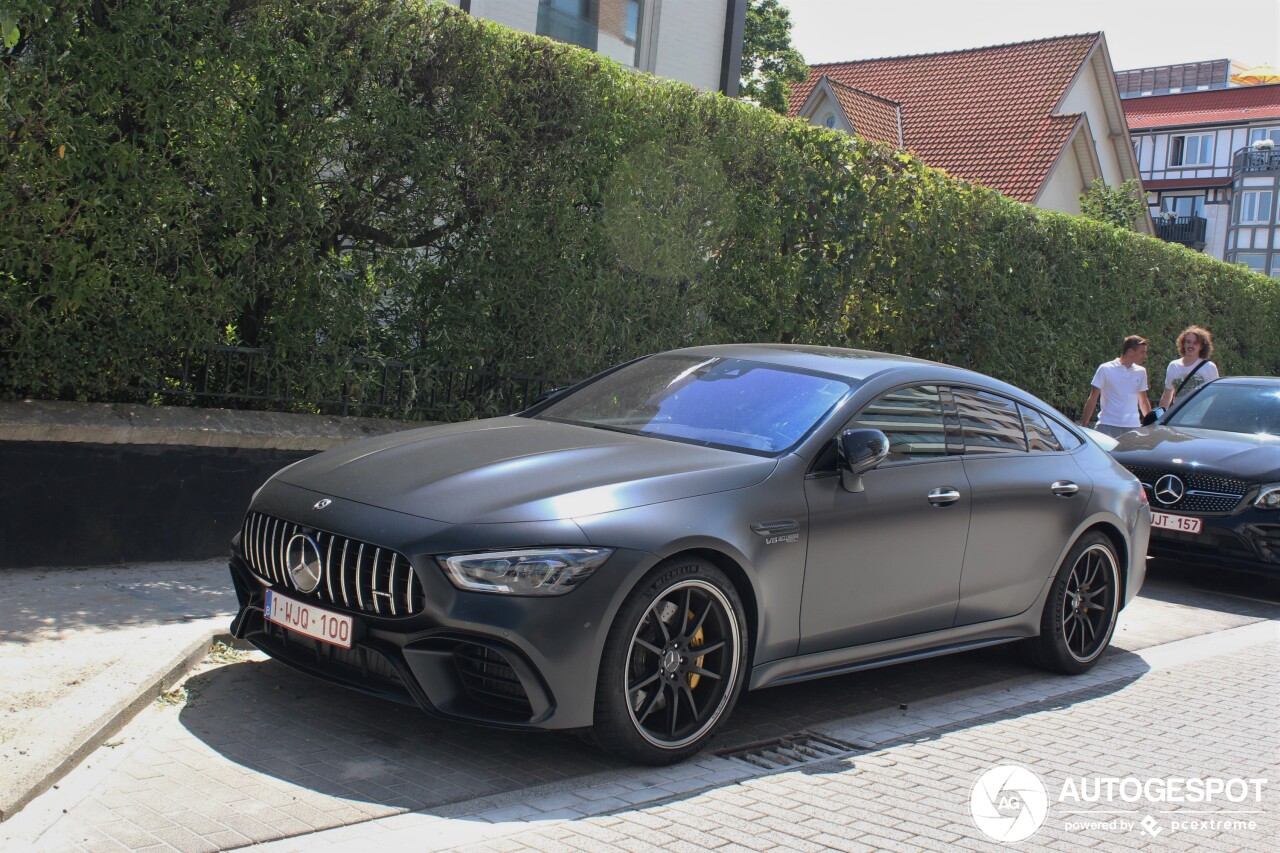
[[[288, 570], [289, 540], [302, 534], [320, 553], [320, 585], [303, 593]], [[244, 517], [241, 553], [259, 578], [291, 593], [372, 616], [422, 612], [422, 581], [403, 555], [261, 512]]]

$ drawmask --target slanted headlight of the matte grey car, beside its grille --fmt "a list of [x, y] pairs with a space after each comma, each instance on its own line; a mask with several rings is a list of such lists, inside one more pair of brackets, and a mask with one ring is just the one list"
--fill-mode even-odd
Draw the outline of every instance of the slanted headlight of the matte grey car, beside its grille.
[[458, 589], [563, 596], [591, 576], [613, 548], [521, 548], [436, 557]]

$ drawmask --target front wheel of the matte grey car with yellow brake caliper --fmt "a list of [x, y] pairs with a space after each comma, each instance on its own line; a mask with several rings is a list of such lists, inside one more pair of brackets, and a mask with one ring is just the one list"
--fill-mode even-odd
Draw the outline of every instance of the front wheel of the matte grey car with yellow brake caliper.
[[741, 693], [745, 625], [737, 590], [710, 562], [654, 567], [609, 628], [590, 740], [654, 766], [696, 753]]

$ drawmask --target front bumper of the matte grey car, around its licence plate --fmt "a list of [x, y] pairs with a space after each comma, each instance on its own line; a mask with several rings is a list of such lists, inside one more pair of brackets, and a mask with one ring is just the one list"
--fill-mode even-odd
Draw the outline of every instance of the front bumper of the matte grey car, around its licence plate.
[[[617, 551], [595, 575], [559, 597], [515, 597], [453, 588], [434, 562], [415, 565], [426, 592], [424, 612], [381, 617], [334, 607], [260, 578], [238, 540], [230, 556], [239, 611], [232, 634], [310, 675], [428, 713], [517, 729], [591, 725], [595, 681], [623, 578], [650, 555]], [[415, 561], [416, 564], [416, 561]], [[353, 620], [343, 649], [264, 617], [265, 590]]]

